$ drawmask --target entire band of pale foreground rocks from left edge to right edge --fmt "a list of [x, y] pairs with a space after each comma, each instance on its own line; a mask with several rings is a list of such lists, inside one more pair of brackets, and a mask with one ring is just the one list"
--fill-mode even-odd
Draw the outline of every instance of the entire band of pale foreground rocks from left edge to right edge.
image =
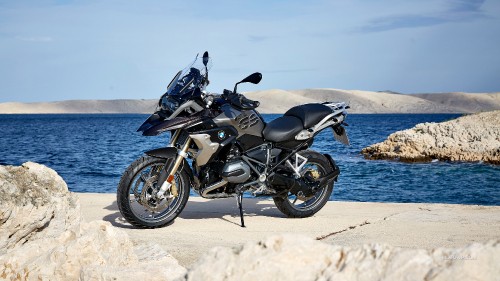
[[30, 162], [0, 166], [0, 246], [3, 280], [495, 280], [500, 276], [500, 240], [425, 250], [384, 244], [338, 246], [286, 234], [236, 248], [213, 248], [185, 268], [154, 242], [134, 242], [107, 221], [85, 222], [78, 196], [68, 191], [63, 179]]

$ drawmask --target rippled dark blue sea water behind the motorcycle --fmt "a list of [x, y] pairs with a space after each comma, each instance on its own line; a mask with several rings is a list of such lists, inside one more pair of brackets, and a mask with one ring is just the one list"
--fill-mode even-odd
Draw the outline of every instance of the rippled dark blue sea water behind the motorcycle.
[[[264, 115], [270, 121], [280, 115]], [[360, 151], [395, 131], [457, 114], [351, 114], [351, 146], [325, 130], [313, 148], [341, 169], [331, 200], [500, 205], [500, 166], [365, 160]], [[147, 115], [0, 115], [0, 164], [38, 162], [56, 170], [71, 191], [114, 193], [122, 172], [144, 151], [164, 146], [168, 134], [143, 137]]]

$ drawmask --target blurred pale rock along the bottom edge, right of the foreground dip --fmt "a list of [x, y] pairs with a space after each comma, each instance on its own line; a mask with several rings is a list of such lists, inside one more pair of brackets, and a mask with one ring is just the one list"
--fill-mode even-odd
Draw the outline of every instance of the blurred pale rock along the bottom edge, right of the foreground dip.
[[498, 280], [499, 263], [500, 241], [427, 251], [278, 235], [239, 249], [213, 248], [187, 280]]

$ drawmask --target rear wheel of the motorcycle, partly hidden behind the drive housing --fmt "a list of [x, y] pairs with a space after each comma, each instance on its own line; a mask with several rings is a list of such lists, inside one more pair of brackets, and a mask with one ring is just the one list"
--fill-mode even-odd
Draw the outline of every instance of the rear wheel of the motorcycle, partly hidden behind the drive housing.
[[[315, 179], [331, 173], [331, 167], [328, 159], [312, 150], [305, 150], [297, 152], [300, 156], [307, 158], [306, 165], [300, 171], [302, 176], [313, 175]], [[274, 203], [278, 210], [289, 218], [305, 218], [310, 217], [317, 213], [330, 198], [333, 191], [333, 180], [328, 182], [325, 186], [320, 186], [315, 194], [311, 196], [300, 196], [288, 192], [286, 196], [274, 197]]]

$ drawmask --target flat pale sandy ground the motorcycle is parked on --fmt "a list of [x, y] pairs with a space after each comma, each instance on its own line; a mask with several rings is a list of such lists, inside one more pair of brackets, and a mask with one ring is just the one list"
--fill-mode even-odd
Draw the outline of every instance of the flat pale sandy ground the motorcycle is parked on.
[[289, 219], [272, 200], [245, 199], [247, 227], [241, 228], [234, 198], [191, 197], [171, 225], [135, 229], [121, 217], [114, 194], [78, 195], [85, 220], [109, 221], [134, 243], [155, 242], [183, 266], [214, 246], [233, 247], [280, 233], [348, 246], [377, 242], [426, 249], [500, 239], [500, 206], [334, 201], [311, 218]]

